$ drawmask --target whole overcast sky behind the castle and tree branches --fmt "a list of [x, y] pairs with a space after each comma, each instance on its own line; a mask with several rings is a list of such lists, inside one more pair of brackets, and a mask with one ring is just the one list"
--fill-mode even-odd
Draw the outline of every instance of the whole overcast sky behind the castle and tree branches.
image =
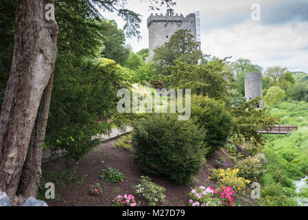
[[[178, 0], [175, 13], [200, 12], [202, 52], [224, 58], [248, 58], [264, 69], [280, 65], [308, 73], [308, 0]], [[261, 17], [253, 21], [252, 4], [260, 5]], [[142, 15], [141, 36], [127, 39], [134, 52], [148, 47], [149, 1], [129, 0], [128, 8]], [[153, 13], [166, 13], [166, 8]], [[116, 14], [119, 28], [123, 21]]]

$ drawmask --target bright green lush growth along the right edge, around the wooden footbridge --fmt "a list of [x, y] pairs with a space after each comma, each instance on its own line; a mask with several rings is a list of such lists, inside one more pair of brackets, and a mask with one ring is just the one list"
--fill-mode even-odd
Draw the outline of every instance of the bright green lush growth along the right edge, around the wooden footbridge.
[[294, 184], [308, 171], [308, 103], [281, 102], [270, 107], [270, 113], [280, 116], [280, 124], [297, 124], [298, 131], [289, 135], [267, 135], [265, 155], [268, 159], [261, 178], [263, 206], [298, 206]]

